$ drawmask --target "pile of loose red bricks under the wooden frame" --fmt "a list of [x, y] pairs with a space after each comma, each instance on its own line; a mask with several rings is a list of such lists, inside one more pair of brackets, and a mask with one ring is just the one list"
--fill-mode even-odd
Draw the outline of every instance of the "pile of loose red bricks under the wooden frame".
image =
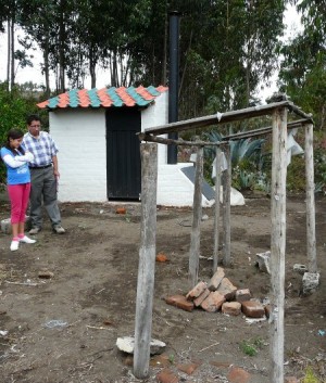
[[249, 318], [264, 318], [265, 315], [268, 317], [269, 309], [258, 299], [253, 299], [249, 289], [238, 290], [225, 277], [222, 267], [217, 267], [209, 283], [201, 281], [186, 296], [172, 295], [166, 297], [165, 302], [186, 311], [192, 311], [198, 307], [209, 312], [221, 310], [233, 316], [242, 312]]

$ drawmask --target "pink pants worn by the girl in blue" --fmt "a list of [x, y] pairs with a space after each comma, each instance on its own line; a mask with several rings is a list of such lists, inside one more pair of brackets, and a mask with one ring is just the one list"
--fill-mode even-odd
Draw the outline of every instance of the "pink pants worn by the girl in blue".
[[8, 194], [11, 202], [11, 224], [25, 222], [29, 192], [30, 182], [8, 186]]

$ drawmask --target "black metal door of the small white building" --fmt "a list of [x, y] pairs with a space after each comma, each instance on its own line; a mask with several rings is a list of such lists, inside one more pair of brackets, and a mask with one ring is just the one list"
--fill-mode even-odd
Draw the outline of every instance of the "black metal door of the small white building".
[[140, 111], [106, 111], [106, 184], [109, 200], [138, 200], [141, 189]]

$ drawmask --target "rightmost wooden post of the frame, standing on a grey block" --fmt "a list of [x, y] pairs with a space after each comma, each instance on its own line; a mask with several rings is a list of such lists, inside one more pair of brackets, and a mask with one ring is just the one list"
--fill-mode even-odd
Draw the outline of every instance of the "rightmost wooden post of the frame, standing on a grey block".
[[304, 128], [308, 270], [309, 272], [317, 272], [313, 125], [308, 124]]

